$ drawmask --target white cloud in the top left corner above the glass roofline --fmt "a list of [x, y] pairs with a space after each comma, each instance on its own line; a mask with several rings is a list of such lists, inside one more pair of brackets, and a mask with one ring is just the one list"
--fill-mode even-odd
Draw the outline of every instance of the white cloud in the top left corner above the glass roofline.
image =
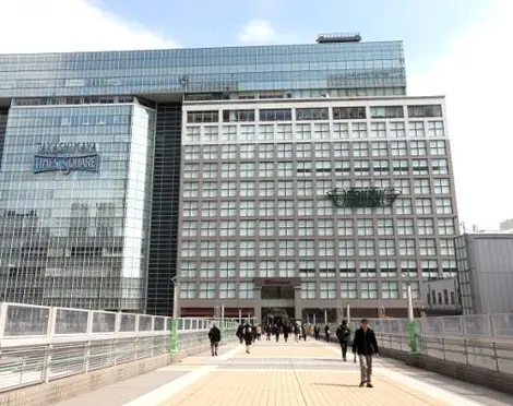
[[0, 8], [0, 52], [174, 48], [178, 44], [95, 0], [12, 0]]

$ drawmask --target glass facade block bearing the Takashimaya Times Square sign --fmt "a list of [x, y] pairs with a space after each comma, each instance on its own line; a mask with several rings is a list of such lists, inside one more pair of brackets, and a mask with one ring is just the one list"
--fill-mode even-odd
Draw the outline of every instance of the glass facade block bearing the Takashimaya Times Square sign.
[[0, 300], [144, 308], [155, 111], [119, 101], [13, 100], [0, 169]]

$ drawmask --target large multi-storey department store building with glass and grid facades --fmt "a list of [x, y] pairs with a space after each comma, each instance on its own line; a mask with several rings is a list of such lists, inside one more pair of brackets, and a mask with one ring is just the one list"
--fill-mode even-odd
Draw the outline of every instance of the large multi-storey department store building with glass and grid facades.
[[455, 272], [444, 111], [359, 36], [0, 56], [0, 300], [398, 313]]

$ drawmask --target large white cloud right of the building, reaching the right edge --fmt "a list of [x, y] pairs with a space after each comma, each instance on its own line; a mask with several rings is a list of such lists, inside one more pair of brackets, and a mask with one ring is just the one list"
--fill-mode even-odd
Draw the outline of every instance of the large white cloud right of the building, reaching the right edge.
[[513, 2], [494, 1], [482, 23], [408, 81], [409, 94], [445, 94], [460, 219], [497, 228], [513, 217]]

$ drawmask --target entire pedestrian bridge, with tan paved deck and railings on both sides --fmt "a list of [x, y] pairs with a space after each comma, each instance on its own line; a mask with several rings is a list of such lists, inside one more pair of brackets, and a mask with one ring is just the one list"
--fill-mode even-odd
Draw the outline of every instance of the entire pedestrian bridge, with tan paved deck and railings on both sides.
[[513, 314], [370, 325], [372, 389], [350, 354], [343, 362], [337, 343], [311, 336], [258, 341], [248, 355], [235, 320], [0, 303], [0, 405], [513, 405]]

